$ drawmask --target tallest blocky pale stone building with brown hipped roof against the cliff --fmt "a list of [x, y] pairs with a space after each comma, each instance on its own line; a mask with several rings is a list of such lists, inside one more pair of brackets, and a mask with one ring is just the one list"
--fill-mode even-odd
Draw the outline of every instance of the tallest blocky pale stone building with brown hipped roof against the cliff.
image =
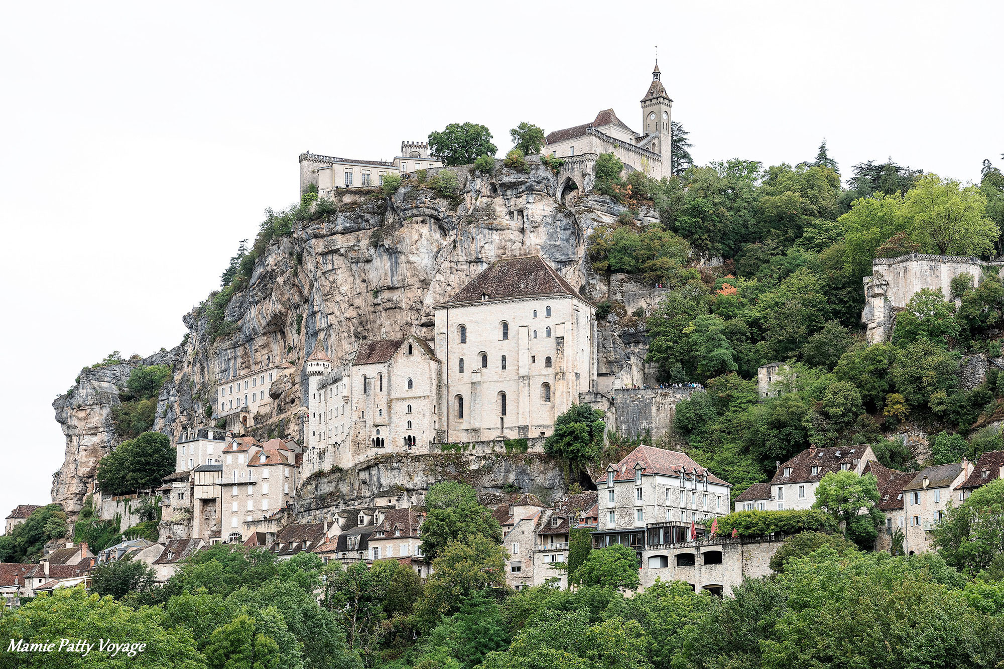
[[595, 385], [594, 308], [540, 256], [496, 260], [435, 311], [438, 441], [547, 436]]

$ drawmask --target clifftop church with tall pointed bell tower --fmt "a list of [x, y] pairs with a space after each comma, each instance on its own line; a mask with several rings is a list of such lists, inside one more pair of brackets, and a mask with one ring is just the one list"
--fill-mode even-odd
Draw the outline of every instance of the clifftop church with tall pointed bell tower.
[[[578, 183], [573, 188], [591, 190], [591, 178], [595, 174], [591, 167], [599, 154], [613, 154], [629, 172], [644, 172], [655, 179], [672, 174], [670, 156], [673, 142], [670, 130], [673, 99], [666, 92], [662, 76], [657, 61], [652, 71], [652, 82], [641, 100], [641, 133], [620, 121], [611, 108], [598, 113], [590, 123], [547, 135], [545, 153], [563, 159], [566, 165], [581, 164], [581, 169], [576, 174], [581, 174], [578, 181], [583, 183]], [[559, 199], [564, 187], [562, 184], [558, 189]]]

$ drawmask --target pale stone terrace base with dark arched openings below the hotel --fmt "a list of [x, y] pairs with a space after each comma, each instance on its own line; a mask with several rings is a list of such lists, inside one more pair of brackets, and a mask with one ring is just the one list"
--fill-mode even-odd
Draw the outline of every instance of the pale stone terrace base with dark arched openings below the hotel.
[[[652, 546], [642, 555], [642, 587], [653, 585], [656, 579], [686, 581], [698, 592], [720, 588], [723, 595], [729, 595], [743, 579], [771, 574], [770, 559], [781, 541], [771, 537], [722, 538]], [[716, 552], [721, 552], [720, 564]], [[666, 566], [661, 567], [663, 564]]]

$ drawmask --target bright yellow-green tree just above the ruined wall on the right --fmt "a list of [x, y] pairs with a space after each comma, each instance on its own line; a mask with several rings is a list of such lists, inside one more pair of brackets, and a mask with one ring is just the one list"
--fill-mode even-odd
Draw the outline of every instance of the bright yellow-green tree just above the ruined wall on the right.
[[907, 192], [903, 216], [911, 238], [927, 253], [989, 255], [1000, 228], [987, 218], [986, 206], [979, 186], [928, 173]]

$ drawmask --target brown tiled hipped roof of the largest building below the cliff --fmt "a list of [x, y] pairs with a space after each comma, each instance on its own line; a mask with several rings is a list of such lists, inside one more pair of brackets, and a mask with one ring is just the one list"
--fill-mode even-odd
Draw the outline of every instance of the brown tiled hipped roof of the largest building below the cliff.
[[503, 258], [488, 265], [440, 306], [467, 304], [487, 299], [571, 295], [582, 299], [539, 255]]

